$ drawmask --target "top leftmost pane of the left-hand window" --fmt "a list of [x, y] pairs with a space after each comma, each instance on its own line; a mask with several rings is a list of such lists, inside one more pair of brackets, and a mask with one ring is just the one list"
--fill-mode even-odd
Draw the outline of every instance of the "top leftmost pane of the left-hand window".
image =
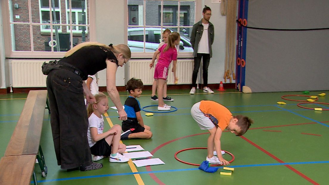
[[[10, 20], [12, 22], [30, 22], [29, 17], [29, 4], [28, 3], [16, 3], [15, 1], [9, 4], [9, 11], [12, 14]], [[18, 5], [18, 8], [15, 8], [15, 4]]]

